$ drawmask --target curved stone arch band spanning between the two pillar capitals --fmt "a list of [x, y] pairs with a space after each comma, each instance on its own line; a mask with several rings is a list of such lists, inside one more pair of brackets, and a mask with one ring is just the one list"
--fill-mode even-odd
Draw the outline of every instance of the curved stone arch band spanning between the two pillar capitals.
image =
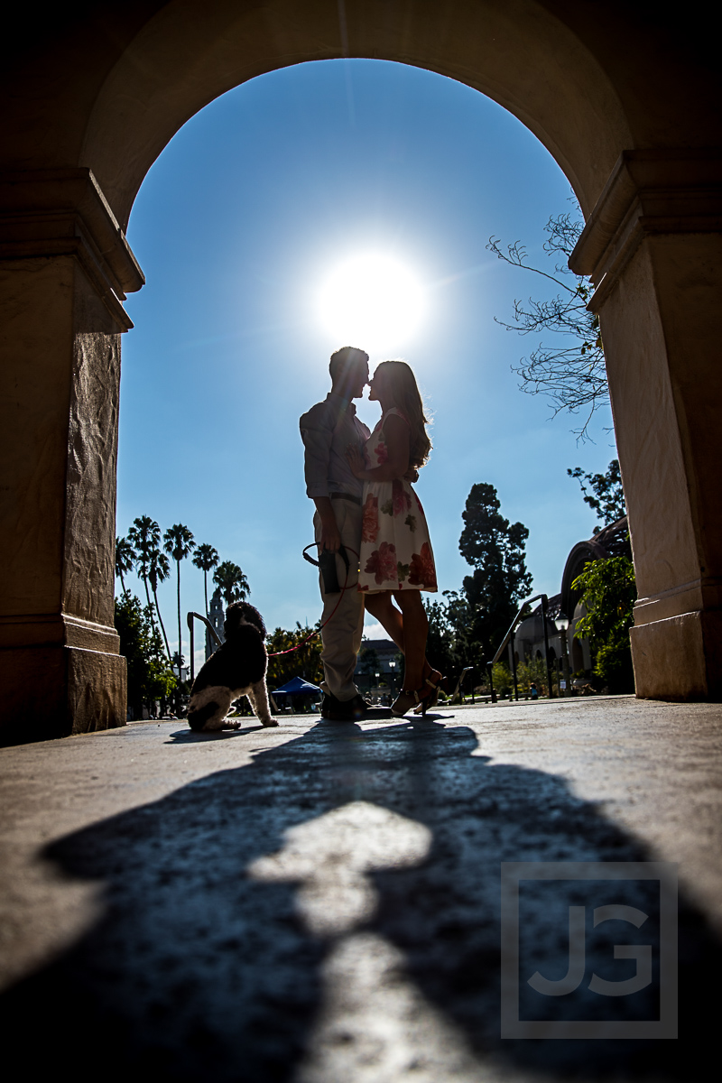
[[78, 157], [93, 164], [121, 223], [153, 161], [199, 108], [255, 76], [314, 60], [397, 61], [487, 94], [548, 147], [586, 212], [618, 148], [633, 145], [600, 62], [536, 0], [305, 6], [313, 17], [299, 18], [293, 0], [245, 10], [229, 0], [208, 17], [204, 5], [173, 0], [140, 29], [100, 90]]

